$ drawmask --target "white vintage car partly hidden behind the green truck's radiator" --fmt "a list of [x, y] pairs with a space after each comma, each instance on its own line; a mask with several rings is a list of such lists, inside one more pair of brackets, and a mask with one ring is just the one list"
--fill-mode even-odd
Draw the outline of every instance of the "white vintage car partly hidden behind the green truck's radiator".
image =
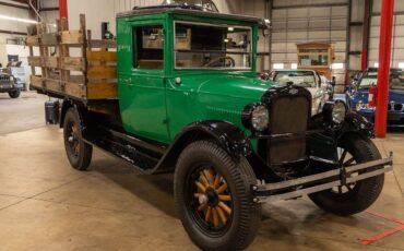
[[275, 70], [270, 73], [269, 80], [280, 84], [292, 83], [306, 87], [312, 96], [311, 115], [319, 113], [332, 95], [330, 81], [312, 70]]

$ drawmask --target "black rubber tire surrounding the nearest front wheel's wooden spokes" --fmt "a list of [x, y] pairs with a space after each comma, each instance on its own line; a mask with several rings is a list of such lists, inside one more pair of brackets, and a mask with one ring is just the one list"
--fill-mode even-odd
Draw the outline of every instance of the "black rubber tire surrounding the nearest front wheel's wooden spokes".
[[[231, 198], [228, 202], [233, 206], [231, 214], [228, 215], [225, 224], [222, 223], [219, 229], [214, 227], [213, 219], [212, 223], [203, 222], [206, 220], [203, 215], [199, 216], [203, 212], [197, 210], [201, 204], [198, 204], [197, 199], [194, 199], [197, 202], [192, 201], [193, 193], [188, 191], [190, 186], [193, 186], [194, 172], [198, 174], [198, 168], [201, 166], [209, 166], [213, 174], [223, 177], [223, 182], [227, 184], [228, 194]], [[202, 172], [200, 174], [202, 176]], [[199, 179], [195, 180], [199, 181]], [[261, 222], [261, 205], [252, 202], [250, 191], [251, 184], [256, 183], [256, 175], [246, 158], [235, 162], [217, 144], [209, 141], [199, 141], [186, 147], [177, 163], [174, 192], [177, 211], [191, 240], [202, 250], [247, 248], [254, 239]], [[209, 203], [211, 201], [206, 202]], [[219, 206], [215, 207], [218, 213], [217, 207]], [[207, 217], [206, 211], [205, 217]]]

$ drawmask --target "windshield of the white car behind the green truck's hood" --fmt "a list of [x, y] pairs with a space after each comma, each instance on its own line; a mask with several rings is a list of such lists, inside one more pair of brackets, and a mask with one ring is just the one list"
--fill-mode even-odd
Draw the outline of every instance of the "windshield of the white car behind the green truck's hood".
[[311, 71], [281, 71], [275, 73], [274, 81], [281, 84], [293, 82], [304, 87], [316, 87], [316, 77]]

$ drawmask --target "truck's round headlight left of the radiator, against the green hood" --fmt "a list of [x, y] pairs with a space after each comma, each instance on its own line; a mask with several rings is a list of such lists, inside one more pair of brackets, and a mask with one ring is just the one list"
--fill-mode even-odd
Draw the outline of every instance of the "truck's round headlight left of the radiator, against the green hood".
[[242, 111], [242, 124], [247, 129], [262, 132], [268, 129], [270, 112], [266, 106], [261, 104], [248, 105]]

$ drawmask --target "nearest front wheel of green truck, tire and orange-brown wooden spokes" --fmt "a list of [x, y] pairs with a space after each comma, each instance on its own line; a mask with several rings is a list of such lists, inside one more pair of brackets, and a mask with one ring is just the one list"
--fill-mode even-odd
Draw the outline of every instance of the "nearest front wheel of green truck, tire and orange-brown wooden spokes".
[[213, 142], [190, 144], [174, 181], [177, 210], [191, 240], [202, 250], [242, 250], [256, 237], [261, 205], [250, 187], [257, 178], [247, 159], [235, 162]]

